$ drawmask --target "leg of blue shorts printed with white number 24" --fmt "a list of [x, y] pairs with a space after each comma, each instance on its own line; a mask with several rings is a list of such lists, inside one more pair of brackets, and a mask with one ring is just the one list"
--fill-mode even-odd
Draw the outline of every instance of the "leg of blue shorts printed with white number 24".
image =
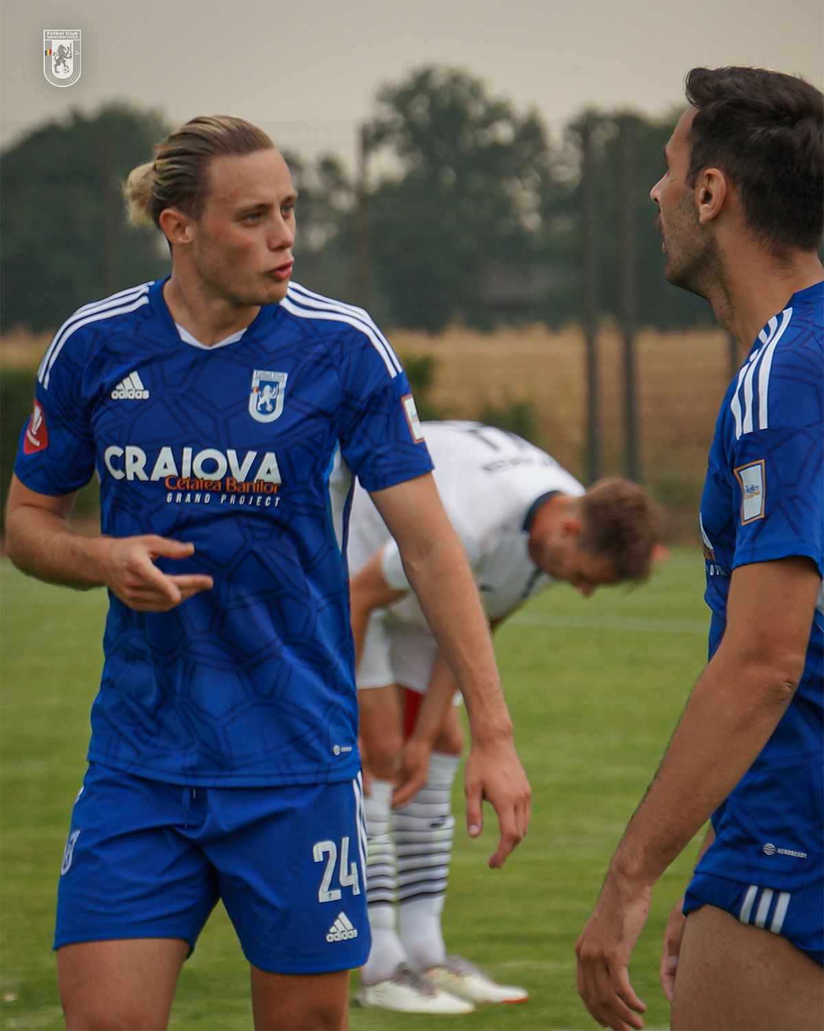
[[366, 962], [359, 774], [331, 785], [211, 789], [209, 812], [202, 845], [252, 966], [320, 974]]

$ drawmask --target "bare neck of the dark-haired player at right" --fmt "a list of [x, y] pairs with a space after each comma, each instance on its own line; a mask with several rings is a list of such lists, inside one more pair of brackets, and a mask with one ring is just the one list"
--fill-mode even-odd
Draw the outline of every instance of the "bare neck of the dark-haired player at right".
[[749, 352], [769, 319], [790, 297], [824, 279], [815, 251], [796, 251], [779, 261], [763, 247], [747, 241], [722, 258], [722, 284], [710, 303], [719, 324]]

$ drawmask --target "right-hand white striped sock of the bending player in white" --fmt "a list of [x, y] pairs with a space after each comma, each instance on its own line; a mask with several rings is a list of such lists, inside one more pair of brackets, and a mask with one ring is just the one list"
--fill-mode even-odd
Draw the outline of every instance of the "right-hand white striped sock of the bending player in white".
[[416, 970], [446, 960], [441, 913], [455, 832], [452, 781], [459, 763], [459, 756], [433, 753], [426, 784], [392, 812], [401, 941]]

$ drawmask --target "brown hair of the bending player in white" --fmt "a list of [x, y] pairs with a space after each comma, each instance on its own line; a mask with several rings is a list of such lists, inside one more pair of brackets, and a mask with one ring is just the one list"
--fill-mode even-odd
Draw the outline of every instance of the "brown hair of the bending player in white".
[[598, 479], [581, 499], [578, 547], [608, 558], [619, 580], [645, 580], [660, 539], [661, 518], [648, 494], [628, 479]]

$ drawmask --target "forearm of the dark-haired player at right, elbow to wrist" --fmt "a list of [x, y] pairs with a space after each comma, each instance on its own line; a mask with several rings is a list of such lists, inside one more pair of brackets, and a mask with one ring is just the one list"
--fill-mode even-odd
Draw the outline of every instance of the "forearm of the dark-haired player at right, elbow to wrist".
[[753, 764], [792, 698], [792, 680], [784, 667], [725, 654], [722, 644], [613, 857], [610, 878], [638, 887], [658, 879]]

